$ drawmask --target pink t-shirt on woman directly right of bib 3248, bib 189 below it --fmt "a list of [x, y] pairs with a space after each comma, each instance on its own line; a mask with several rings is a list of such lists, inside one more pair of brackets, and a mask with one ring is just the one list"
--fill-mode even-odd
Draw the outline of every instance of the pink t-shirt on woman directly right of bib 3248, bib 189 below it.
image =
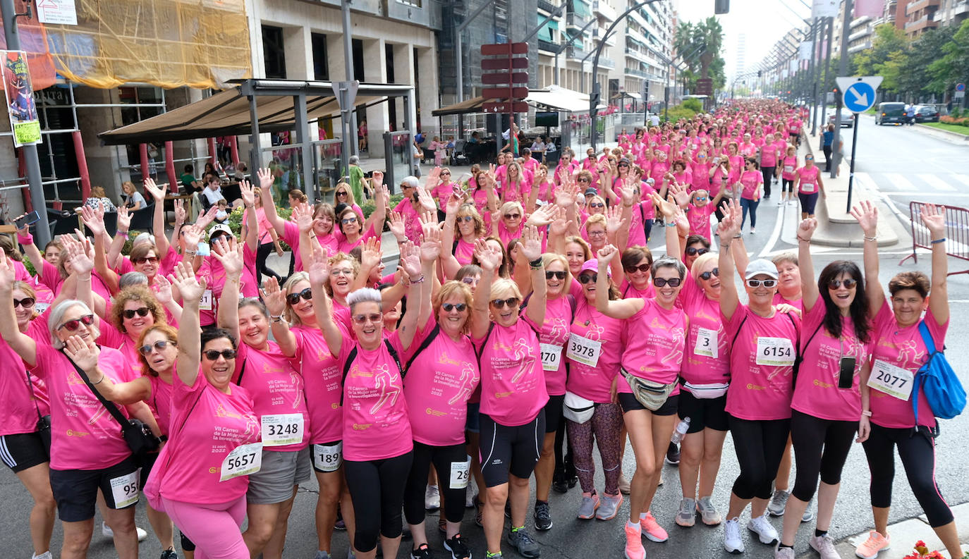
[[[342, 323], [336, 323], [344, 336], [350, 334]], [[329, 352], [327, 340], [320, 328], [293, 326], [297, 338], [297, 354], [293, 366], [305, 383], [306, 411], [309, 414], [309, 444], [335, 443], [343, 438], [343, 369], [336, 356]]]

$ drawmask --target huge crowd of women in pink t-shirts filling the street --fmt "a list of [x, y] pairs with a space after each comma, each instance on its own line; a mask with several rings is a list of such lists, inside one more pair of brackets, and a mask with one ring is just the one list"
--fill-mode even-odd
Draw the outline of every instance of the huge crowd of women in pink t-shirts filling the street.
[[[930, 278], [900, 273], [885, 294], [867, 203], [853, 211], [863, 272], [836, 261], [816, 275], [824, 186], [811, 156], [796, 156], [802, 117], [776, 102], [734, 104], [639, 129], [581, 161], [565, 148], [553, 169], [526, 150], [466, 183], [439, 168], [424, 185], [404, 178], [392, 209], [374, 172], [368, 216], [340, 185], [335, 207], [291, 197], [285, 219], [260, 170], [259, 186], [240, 185], [238, 235], [211, 213], [186, 223], [176, 206], [171, 238], [127, 246], [127, 209], [111, 237], [105, 208], [91, 204], [80, 208], [86, 232], [43, 251], [26, 228], [19, 246], [0, 238], [0, 455], [35, 503], [33, 556], [51, 556], [56, 512], [60, 557], [85, 557], [97, 506], [118, 556], [137, 557], [143, 492], [163, 559], [176, 557], [174, 527], [186, 556], [279, 559], [297, 487], [315, 476], [318, 559], [334, 525], [358, 558], [378, 545], [396, 557], [405, 521], [410, 556], [431, 557], [428, 484], [453, 559], [470, 559], [481, 539], [488, 558], [503, 540], [535, 558], [530, 480], [531, 523], [551, 529], [549, 490], [574, 486], [570, 462], [578, 518], [622, 512], [625, 556], [642, 559], [642, 537], [668, 539], [653, 511], [676, 507], [654, 502], [674, 430], [674, 521], [722, 524], [730, 552], [744, 551], [749, 504], [748, 530], [792, 559], [817, 493], [809, 544], [838, 557], [828, 528], [857, 441], [875, 526], [858, 555], [888, 547], [897, 448], [929, 524], [960, 556], [934, 479], [931, 409], [920, 394], [916, 416], [911, 383], [886, 381], [922, 366], [922, 325], [944, 345], [943, 215], [924, 206], [918, 217], [933, 239]], [[797, 192], [801, 204], [798, 250], [749, 261], [741, 232], [748, 217], [755, 232], [775, 178], [780, 203]], [[144, 189], [164, 231], [165, 188]], [[385, 227], [400, 255], [387, 274]], [[651, 236], [665, 256], [653, 257]], [[285, 278], [257, 265], [277, 239], [293, 251]], [[718, 476], [728, 433], [739, 475], [729, 502], [715, 502], [714, 486], [730, 482]], [[484, 533], [462, 523], [466, 505]], [[783, 515], [780, 533], [770, 514]]]

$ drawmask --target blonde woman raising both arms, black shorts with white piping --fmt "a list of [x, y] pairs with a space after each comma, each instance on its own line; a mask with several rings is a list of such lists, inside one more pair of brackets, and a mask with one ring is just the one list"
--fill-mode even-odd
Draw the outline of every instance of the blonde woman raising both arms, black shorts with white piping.
[[[521, 252], [531, 268], [532, 293], [524, 312], [512, 281], [497, 279], [501, 253], [477, 243], [482, 281], [475, 291], [471, 339], [479, 347], [482, 371], [481, 455], [487, 485], [485, 539], [488, 553], [501, 553], [505, 503], [511, 493], [509, 542], [521, 555], [537, 557], [541, 547], [525, 530], [528, 479], [545, 433], [548, 402], [542, 350], [536, 333], [545, 323], [546, 279], [538, 230], [527, 228]], [[519, 316], [520, 314], [520, 316]], [[489, 318], [490, 316], [490, 318]]]

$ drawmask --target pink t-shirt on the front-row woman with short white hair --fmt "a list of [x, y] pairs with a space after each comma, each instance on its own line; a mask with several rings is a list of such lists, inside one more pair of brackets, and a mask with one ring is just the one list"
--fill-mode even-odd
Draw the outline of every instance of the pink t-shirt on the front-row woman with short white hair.
[[[403, 357], [399, 331], [386, 338]], [[357, 357], [343, 380], [343, 456], [347, 460], [382, 460], [414, 449], [414, 435], [403, 397], [400, 368], [386, 343], [374, 351], [343, 336], [340, 374], [354, 348]], [[402, 365], [403, 363], [401, 363]]]

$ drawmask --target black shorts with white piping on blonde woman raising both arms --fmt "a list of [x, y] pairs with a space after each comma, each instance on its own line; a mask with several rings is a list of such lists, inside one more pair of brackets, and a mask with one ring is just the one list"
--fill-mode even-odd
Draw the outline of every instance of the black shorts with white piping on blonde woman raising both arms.
[[511, 473], [527, 480], [535, 471], [545, 441], [545, 412], [524, 425], [510, 427], [481, 415], [482, 475], [485, 485], [494, 487], [508, 482]]

